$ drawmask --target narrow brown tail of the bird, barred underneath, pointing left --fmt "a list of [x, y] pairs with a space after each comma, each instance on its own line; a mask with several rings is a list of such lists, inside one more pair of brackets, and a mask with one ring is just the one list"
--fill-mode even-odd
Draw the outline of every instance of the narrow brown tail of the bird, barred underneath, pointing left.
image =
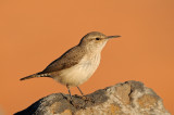
[[51, 77], [51, 76], [49, 74], [37, 73], [37, 74], [33, 74], [30, 76], [23, 77], [20, 80], [26, 80], [26, 79], [30, 79], [30, 78], [35, 78], [35, 77]]

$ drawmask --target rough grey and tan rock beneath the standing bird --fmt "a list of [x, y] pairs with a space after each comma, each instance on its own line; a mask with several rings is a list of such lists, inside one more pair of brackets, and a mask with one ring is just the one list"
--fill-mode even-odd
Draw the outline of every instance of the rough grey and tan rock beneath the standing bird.
[[126, 81], [82, 98], [53, 93], [15, 115], [171, 115], [162, 99], [139, 81]]

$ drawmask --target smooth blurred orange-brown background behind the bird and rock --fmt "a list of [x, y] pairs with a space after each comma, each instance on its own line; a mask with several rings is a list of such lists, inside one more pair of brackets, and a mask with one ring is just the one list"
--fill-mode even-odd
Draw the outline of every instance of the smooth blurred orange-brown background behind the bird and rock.
[[[102, 51], [85, 93], [126, 80], [152, 88], [174, 114], [174, 0], [1, 0], [0, 110], [10, 115], [51, 93], [67, 93], [42, 71], [89, 31], [121, 35]], [[76, 88], [72, 93], [79, 94]]]

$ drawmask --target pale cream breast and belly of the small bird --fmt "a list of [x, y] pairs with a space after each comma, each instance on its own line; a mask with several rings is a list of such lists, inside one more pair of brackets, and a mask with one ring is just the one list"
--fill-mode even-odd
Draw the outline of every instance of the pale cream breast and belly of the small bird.
[[57, 79], [59, 82], [69, 86], [78, 86], [88, 80], [96, 72], [100, 63], [100, 53], [84, 55], [78, 64], [63, 69]]

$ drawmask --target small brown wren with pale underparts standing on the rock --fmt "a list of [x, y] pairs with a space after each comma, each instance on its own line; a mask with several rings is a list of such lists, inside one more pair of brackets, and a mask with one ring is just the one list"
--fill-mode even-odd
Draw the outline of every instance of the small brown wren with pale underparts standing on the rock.
[[120, 36], [105, 36], [98, 31], [85, 35], [79, 43], [67, 50], [64, 54], [50, 63], [42, 72], [21, 78], [21, 80], [34, 77], [50, 77], [55, 81], [70, 87], [77, 87], [87, 81], [95, 73], [100, 63], [101, 50], [109, 39]]

